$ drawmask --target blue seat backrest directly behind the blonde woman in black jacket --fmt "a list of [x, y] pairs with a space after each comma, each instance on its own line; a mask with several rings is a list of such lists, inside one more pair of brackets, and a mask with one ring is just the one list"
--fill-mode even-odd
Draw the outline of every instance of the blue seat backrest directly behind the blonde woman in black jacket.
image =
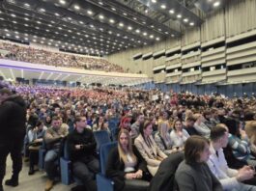
[[117, 142], [106, 143], [100, 147], [100, 170], [102, 175], [105, 175], [108, 153], [115, 147], [117, 147]]

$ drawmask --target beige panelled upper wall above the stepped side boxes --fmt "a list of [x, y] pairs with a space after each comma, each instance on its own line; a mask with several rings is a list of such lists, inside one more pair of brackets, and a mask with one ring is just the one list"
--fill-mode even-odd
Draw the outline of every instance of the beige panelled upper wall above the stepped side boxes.
[[170, 38], [156, 42], [153, 45], [141, 48], [133, 48], [112, 54], [107, 57], [109, 62], [120, 65], [130, 72], [145, 72], [150, 77], [154, 76], [153, 68], [163, 65], [163, 59], [148, 60], [138, 59], [133, 61], [133, 55], [138, 53], [147, 54], [160, 50], [167, 50], [181, 46], [181, 48], [199, 42], [199, 44], [213, 41], [223, 37], [232, 38], [250, 30], [256, 29], [256, 1], [255, 0], [232, 0], [228, 1], [225, 9], [213, 14], [203, 15], [204, 23], [200, 27], [194, 27], [183, 31], [181, 39]]

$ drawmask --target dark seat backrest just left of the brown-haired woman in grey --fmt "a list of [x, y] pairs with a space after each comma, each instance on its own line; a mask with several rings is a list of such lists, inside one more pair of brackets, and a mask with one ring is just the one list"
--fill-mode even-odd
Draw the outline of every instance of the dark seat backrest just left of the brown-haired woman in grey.
[[159, 165], [155, 177], [151, 180], [150, 191], [174, 191], [178, 190], [175, 181], [175, 173], [179, 164], [184, 160], [183, 152], [171, 153]]

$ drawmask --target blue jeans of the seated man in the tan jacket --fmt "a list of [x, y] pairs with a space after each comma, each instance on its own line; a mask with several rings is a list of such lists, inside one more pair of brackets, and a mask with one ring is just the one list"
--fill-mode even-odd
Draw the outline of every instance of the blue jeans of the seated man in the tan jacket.
[[44, 158], [44, 169], [49, 179], [53, 180], [56, 176], [56, 161], [59, 159], [58, 150], [48, 150]]

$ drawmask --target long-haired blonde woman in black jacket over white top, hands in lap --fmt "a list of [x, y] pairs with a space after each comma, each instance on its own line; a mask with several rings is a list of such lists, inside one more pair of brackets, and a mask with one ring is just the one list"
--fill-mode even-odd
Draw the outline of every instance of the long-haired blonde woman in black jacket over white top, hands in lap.
[[106, 176], [114, 180], [115, 191], [146, 191], [149, 182], [145, 160], [135, 147], [127, 129], [118, 134], [118, 147], [110, 151], [106, 165]]

